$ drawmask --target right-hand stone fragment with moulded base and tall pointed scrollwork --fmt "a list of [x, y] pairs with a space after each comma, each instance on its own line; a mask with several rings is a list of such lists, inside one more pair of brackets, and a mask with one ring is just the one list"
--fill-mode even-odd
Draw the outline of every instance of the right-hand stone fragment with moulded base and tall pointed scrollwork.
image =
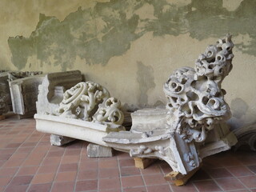
[[[230, 118], [230, 108], [224, 101], [226, 91], [222, 90], [221, 83], [232, 69], [233, 46], [231, 36], [227, 35], [199, 55], [194, 69], [175, 70], [163, 87], [166, 110], [139, 110], [132, 115], [130, 131], [110, 133], [103, 141], [114, 149], [129, 152], [131, 157], [161, 158], [181, 174], [196, 169], [202, 161], [200, 152], [202, 157], [209, 154], [195, 143], [206, 142], [207, 133]], [[148, 116], [154, 117], [153, 123], [146, 120], [150, 119]], [[139, 118], [142, 123], [136, 120]], [[210, 154], [235, 144], [234, 134], [228, 138], [232, 141], [221, 149], [211, 145]]]

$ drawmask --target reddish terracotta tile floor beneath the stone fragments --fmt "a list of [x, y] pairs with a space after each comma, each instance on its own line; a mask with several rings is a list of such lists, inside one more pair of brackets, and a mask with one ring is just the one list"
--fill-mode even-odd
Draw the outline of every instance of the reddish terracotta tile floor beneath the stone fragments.
[[50, 146], [50, 135], [35, 130], [34, 119], [0, 122], [0, 191], [256, 191], [256, 153], [228, 151], [203, 161], [186, 186], [174, 186], [158, 161], [146, 170], [128, 154], [87, 158], [88, 142]]

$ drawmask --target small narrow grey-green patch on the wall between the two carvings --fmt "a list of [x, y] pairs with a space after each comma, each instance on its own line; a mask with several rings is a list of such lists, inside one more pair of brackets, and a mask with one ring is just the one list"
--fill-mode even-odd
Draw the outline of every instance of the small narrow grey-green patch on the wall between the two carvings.
[[137, 62], [137, 82], [139, 86], [139, 104], [148, 104], [147, 91], [155, 87], [154, 70], [152, 66], [145, 66], [142, 62]]

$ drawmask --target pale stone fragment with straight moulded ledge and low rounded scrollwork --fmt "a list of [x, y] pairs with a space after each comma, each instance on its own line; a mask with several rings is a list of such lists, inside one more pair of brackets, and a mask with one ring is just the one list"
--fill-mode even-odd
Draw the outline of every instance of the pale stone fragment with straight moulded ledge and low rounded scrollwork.
[[[46, 82], [49, 85], [47, 78]], [[39, 97], [46, 95], [45, 91], [48, 92], [43, 89], [43, 84], [40, 91], [38, 102]], [[102, 138], [109, 132], [125, 130], [122, 126], [121, 102], [117, 98], [110, 98], [108, 90], [95, 82], [78, 82], [66, 90], [62, 101], [41, 108], [38, 112], [34, 115], [38, 131], [77, 138], [100, 146], [107, 146]]]

